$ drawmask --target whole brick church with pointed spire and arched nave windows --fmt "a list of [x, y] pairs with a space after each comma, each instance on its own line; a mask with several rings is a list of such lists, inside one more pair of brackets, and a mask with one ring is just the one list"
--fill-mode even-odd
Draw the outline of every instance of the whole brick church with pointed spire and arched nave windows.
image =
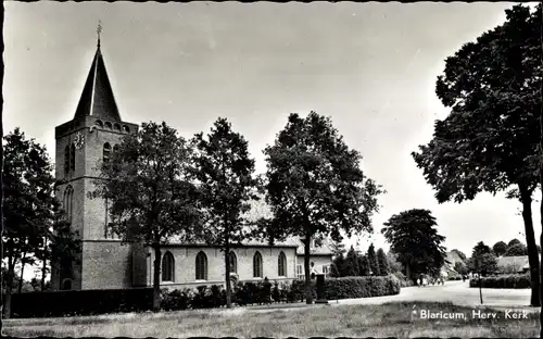
[[[52, 265], [54, 290], [124, 289], [152, 286], [153, 252], [140, 243], [122, 243], [111, 235], [108, 202], [90, 199], [98, 162], [108, 161], [123, 136], [138, 125], [121, 118], [108, 78], [100, 36], [79, 103], [72, 121], [55, 127], [55, 178], [62, 180], [56, 197], [62, 201], [74, 233], [81, 239], [79, 260]], [[111, 219], [111, 217], [110, 217]], [[299, 239], [268, 246], [251, 241], [230, 255], [233, 282], [291, 281], [304, 277], [304, 248]], [[317, 273], [328, 274], [332, 251], [327, 241], [312, 243], [311, 261]], [[205, 243], [171, 243], [162, 248], [161, 287], [193, 288], [225, 284], [224, 253]]]

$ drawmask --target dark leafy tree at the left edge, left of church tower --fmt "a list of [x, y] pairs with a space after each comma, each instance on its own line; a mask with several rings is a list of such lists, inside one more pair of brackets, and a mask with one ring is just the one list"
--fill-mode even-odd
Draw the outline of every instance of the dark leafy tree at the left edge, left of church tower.
[[[7, 271], [4, 316], [11, 316], [11, 293], [15, 266], [24, 264], [46, 235], [54, 196], [52, 164], [46, 148], [27, 139], [20, 128], [3, 138], [2, 262]], [[24, 265], [23, 265], [24, 266]]]

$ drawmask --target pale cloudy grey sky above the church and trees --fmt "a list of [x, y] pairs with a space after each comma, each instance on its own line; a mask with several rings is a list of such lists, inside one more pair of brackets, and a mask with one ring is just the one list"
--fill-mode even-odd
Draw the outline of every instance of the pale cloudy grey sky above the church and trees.
[[[227, 117], [262, 150], [290, 113], [330, 116], [381, 184], [375, 233], [346, 244], [384, 248], [382, 224], [427, 209], [449, 250], [523, 238], [520, 203], [482, 193], [438, 204], [411, 156], [447, 110], [434, 93], [445, 58], [505, 21], [496, 3], [5, 2], [4, 133], [21, 127], [54, 156], [54, 127], [73, 118], [97, 45], [121, 116], [162, 122], [186, 138]], [[535, 235], [541, 234], [534, 202]], [[539, 240], [538, 240], [539, 242]]]

